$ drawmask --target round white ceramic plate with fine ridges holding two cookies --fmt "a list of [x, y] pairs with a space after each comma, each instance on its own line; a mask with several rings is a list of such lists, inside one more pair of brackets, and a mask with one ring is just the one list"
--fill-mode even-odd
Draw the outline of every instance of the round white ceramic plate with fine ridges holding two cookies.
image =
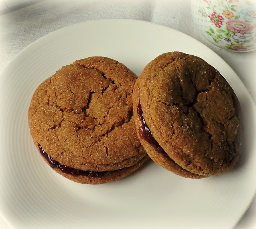
[[[37, 86], [63, 65], [90, 56], [124, 63], [137, 75], [161, 53], [197, 55], [217, 68], [244, 111], [246, 148], [235, 168], [201, 180], [150, 162], [122, 180], [78, 184], [43, 161], [28, 129]], [[234, 71], [213, 51], [171, 28], [137, 20], [97, 20], [44, 36], [0, 77], [0, 212], [14, 228], [232, 228], [256, 191], [256, 107]]]

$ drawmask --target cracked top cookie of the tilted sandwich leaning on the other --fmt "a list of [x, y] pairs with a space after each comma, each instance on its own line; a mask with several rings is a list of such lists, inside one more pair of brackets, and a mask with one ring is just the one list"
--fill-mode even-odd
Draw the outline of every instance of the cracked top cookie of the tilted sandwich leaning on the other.
[[242, 151], [240, 105], [215, 68], [170, 52], [151, 61], [139, 78], [146, 124], [172, 160], [203, 176], [234, 166]]

